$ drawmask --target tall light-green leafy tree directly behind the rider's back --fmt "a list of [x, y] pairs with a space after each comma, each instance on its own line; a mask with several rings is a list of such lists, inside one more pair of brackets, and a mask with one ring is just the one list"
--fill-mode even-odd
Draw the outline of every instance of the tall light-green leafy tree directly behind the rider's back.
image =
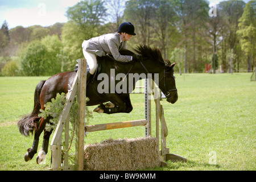
[[69, 69], [75, 67], [76, 59], [82, 55], [82, 42], [102, 33], [101, 25], [106, 16], [104, 2], [100, 0], [86, 0], [69, 7], [61, 35], [65, 55], [68, 56]]

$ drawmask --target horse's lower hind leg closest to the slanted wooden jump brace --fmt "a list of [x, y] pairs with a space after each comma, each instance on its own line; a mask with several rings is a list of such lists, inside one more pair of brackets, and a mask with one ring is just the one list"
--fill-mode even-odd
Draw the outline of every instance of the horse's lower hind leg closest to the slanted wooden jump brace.
[[48, 147], [49, 147], [49, 137], [52, 134], [51, 131], [44, 130], [44, 139], [41, 150], [38, 152], [38, 156], [36, 157], [36, 163], [40, 164], [41, 162], [44, 162], [46, 159], [46, 154], [48, 153]]

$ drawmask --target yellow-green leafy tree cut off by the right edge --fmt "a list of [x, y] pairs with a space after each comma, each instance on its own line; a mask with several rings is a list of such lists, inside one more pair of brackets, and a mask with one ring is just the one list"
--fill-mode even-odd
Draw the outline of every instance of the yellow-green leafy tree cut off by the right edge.
[[249, 1], [245, 5], [239, 22], [237, 34], [241, 38], [241, 49], [247, 56], [247, 72], [251, 72], [256, 56], [256, 1]]

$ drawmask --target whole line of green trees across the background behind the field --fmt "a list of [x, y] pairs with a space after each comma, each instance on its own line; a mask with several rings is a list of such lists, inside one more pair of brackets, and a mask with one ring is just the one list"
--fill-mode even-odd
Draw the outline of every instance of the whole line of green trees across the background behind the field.
[[0, 29], [4, 76], [49, 76], [70, 71], [82, 55], [83, 40], [135, 26], [138, 44], [156, 46], [181, 73], [251, 72], [256, 59], [256, 1], [230, 0], [209, 7], [206, 0], [84, 0], [69, 7], [68, 22], [49, 27]]

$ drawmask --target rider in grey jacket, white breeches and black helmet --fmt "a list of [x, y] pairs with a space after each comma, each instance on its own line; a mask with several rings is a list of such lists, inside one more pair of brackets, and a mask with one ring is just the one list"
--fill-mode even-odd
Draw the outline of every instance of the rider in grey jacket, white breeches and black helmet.
[[106, 56], [112, 54], [115, 60], [121, 62], [129, 62], [133, 60], [133, 56], [121, 55], [119, 51], [126, 49], [126, 41], [136, 35], [134, 26], [130, 22], [120, 24], [117, 32], [114, 34], [104, 34], [95, 38], [84, 40], [82, 43], [82, 52], [89, 65], [86, 71], [86, 82], [96, 72], [97, 59], [96, 56]]

